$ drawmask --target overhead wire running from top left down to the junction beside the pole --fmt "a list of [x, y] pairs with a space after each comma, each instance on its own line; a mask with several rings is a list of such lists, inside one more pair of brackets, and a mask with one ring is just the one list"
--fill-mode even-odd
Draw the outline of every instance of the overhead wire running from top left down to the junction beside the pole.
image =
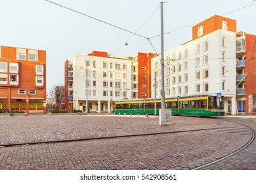
[[87, 14], [84, 14], [84, 13], [79, 12], [79, 11], [77, 11], [77, 10], [74, 10], [74, 9], [72, 9], [72, 8], [68, 8], [68, 7], [65, 7], [65, 6], [63, 6], [63, 5], [60, 5], [60, 4], [58, 4], [58, 3], [54, 3], [53, 1], [49, 1], [49, 0], [45, 0], [45, 1], [47, 1], [47, 2], [49, 2], [49, 3], [53, 3], [54, 5], [57, 5], [57, 6], [62, 7], [62, 8], [66, 8], [67, 10], [71, 10], [71, 11], [76, 12], [76, 13], [78, 13], [78, 14], [81, 14], [81, 15], [83, 15], [83, 16], [87, 16], [88, 18], [91, 18], [91, 19], [96, 20], [96, 21], [98, 21], [98, 22], [102, 22], [102, 23], [107, 24], [107, 25], [110, 25], [110, 26], [112, 26], [112, 27], [116, 27], [117, 29], [121, 29], [121, 30], [126, 31], [126, 32], [128, 32], [128, 33], [132, 33], [133, 35], [137, 35], [137, 36], [142, 37], [142, 38], [144, 38], [144, 39], [149, 39], [148, 37], [144, 37], [144, 36], [139, 35], [139, 34], [137, 34], [137, 33], [133, 33], [132, 31], [129, 31], [129, 30], [124, 29], [124, 28], [122, 28], [122, 27], [119, 27], [119, 26], [117, 26], [117, 25], [110, 24], [110, 23], [108, 23], [108, 22], [105, 22], [105, 21], [100, 20], [100, 19], [98, 19], [98, 18], [95, 18], [95, 17], [93, 17], [93, 16], [89, 16], [89, 15], [87, 15]]

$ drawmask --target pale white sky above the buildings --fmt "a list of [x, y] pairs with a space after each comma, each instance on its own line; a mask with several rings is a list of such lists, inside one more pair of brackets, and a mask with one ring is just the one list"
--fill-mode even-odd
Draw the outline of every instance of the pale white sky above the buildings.
[[[51, 1], [132, 32], [160, 6], [158, 0]], [[253, 6], [247, 7], [249, 5]], [[164, 32], [190, 25], [166, 34], [165, 50], [189, 41], [192, 25], [214, 14], [237, 20], [237, 31], [256, 34], [256, 2], [253, 0], [173, 0], [163, 6]], [[134, 35], [128, 46], [122, 46], [131, 33], [45, 0], [0, 0], [0, 17], [0, 45], [47, 51], [47, 88], [64, 84], [64, 61], [75, 54], [87, 55], [93, 50], [121, 56], [154, 52], [147, 39]], [[160, 35], [160, 7], [137, 34], [148, 38]], [[151, 41], [159, 53], [160, 37]]]

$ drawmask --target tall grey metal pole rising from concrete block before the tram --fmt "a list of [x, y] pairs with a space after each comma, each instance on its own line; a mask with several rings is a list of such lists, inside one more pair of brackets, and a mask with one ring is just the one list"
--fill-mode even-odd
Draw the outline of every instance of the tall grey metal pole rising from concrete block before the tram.
[[163, 56], [163, 1], [161, 2], [161, 108], [165, 108], [165, 63]]

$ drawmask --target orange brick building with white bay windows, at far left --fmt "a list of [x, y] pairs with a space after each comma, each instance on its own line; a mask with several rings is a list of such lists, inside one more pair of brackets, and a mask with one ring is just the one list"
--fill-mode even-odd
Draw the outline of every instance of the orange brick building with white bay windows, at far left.
[[46, 113], [46, 52], [0, 46], [0, 110]]

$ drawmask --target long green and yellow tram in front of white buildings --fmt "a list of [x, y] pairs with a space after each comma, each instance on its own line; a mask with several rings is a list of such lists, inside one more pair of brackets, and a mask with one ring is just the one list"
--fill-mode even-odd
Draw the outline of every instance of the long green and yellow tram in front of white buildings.
[[[156, 114], [159, 114], [161, 99], [156, 99]], [[171, 108], [172, 115], [181, 116], [224, 116], [223, 97], [216, 95], [186, 95], [166, 97], [165, 108]], [[114, 101], [114, 114], [154, 114], [155, 99], [125, 99]], [[220, 109], [220, 110], [219, 110]]]

